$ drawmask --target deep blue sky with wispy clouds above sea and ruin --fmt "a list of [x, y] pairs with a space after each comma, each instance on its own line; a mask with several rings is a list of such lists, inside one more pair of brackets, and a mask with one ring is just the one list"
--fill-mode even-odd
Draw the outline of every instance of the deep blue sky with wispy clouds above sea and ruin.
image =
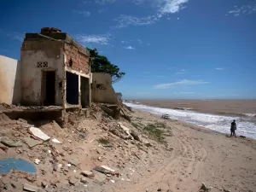
[[3, 2], [0, 55], [53, 26], [118, 65], [125, 98], [256, 99], [255, 0]]

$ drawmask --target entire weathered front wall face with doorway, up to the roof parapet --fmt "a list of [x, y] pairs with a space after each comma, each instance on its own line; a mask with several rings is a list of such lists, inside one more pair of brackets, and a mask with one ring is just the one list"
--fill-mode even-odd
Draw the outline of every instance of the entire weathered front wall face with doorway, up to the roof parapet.
[[[51, 40], [25, 40], [20, 52], [21, 102], [24, 105], [42, 105], [42, 73], [55, 71], [55, 105], [63, 105], [64, 54], [63, 44]], [[47, 67], [38, 67], [47, 62]]]

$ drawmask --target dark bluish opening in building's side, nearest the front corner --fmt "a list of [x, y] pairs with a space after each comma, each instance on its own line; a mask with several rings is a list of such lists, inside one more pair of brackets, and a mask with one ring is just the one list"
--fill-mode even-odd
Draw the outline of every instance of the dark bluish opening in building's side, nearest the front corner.
[[67, 103], [79, 105], [79, 75], [66, 73], [67, 79]]

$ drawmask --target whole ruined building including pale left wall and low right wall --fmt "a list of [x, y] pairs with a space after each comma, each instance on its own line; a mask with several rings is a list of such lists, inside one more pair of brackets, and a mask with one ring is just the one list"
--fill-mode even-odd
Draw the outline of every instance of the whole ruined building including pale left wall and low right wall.
[[25, 34], [20, 61], [0, 55], [0, 87], [0, 102], [30, 107], [26, 112], [36, 109], [41, 117], [43, 112], [54, 119], [63, 119], [69, 110], [87, 113], [91, 102], [119, 101], [111, 76], [90, 72], [88, 49], [48, 27]]

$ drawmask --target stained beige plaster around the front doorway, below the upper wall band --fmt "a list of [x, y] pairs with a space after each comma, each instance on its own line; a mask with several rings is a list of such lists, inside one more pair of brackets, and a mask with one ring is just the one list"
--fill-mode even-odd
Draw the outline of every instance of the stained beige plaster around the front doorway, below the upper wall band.
[[[50, 50], [49, 50], [50, 51]], [[64, 57], [60, 49], [59, 54], [49, 56], [44, 50], [22, 50], [21, 51], [21, 102], [22, 104], [41, 105], [41, 88], [43, 71], [55, 71], [55, 105], [62, 106], [62, 89], [59, 83], [63, 79]], [[38, 61], [47, 61], [48, 67], [38, 67]], [[63, 82], [62, 82], [63, 84]], [[64, 85], [64, 84], [63, 84]]]

